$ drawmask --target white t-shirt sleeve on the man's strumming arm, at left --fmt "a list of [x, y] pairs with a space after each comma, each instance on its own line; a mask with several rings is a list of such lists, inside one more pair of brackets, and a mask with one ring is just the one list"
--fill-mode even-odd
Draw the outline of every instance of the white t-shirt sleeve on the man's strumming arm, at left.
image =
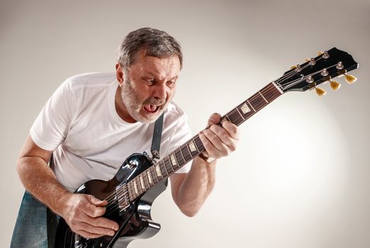
[[74, 102], [71, 82], [67, 79], [45, 103], [30, 128], [30, 137], [38, 147], [53, 151], [65, 140], [75, 109]]

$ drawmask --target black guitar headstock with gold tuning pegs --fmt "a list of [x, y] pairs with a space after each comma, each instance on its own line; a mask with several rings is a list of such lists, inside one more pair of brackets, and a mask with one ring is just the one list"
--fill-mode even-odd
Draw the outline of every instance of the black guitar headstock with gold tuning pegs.
[[317, 87], [319, 84], [330, 81], [332, 89], [337, 90], [340, 88], [340, 84], [332, 79], [341, 75], [344, 75], [346, 81], [352, 84], [357, 78], [347, 72], [358, 67], [359, 64], [353, 60], [351, 55], [333, 47], [328, 51], [320, 52], [318, 57], [307, 59], [305, 63], [291, 67], [274, 82], [284, 93], [315, 88], [316, 93], [323, 96], [326, 92]]

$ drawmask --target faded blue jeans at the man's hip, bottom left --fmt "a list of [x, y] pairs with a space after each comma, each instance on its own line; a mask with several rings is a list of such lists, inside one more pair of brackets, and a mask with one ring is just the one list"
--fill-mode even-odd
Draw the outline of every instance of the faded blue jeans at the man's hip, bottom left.
[[47, 248], [47, 243], [47, 208], [26, 191], [13, 230], [11, 248]]

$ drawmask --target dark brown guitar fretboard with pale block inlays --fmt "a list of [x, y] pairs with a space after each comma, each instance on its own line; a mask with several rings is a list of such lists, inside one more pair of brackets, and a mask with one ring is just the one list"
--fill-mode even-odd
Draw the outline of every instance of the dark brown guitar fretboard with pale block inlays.
[[[240, 125], [250, 118], [254, 113], [260, 111], [264, 106], [281, 96], [283, 91], [274, 83], [267, 84], [263, 89], [240, 103], [236, 108], [222, 116], [220, 123], [229, 120], [235, 125]], [[177, 147], [167, 154], [164, 158], [153, 164], [150, 168], [143, 171], [127, 184], [130, 201], [135, 200], [142, 193], [148, 191], [159, 181], [167, 179], [175, 171], [197, 157], [205, 149], [198, 134], [188, 140], [186, 143]]]

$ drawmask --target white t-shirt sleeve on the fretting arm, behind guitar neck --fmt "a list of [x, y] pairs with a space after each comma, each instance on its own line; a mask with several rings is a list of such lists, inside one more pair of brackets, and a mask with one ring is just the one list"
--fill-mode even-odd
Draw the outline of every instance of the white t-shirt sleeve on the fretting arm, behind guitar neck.
[[[191, 139], [191, 130], [188, 125], [188, 118], [186, 115], [183, 115], [181, 121], [179, 121], [178, 128], [172, 137], [172, 147], [179, 147], [183, 145], [185, 142]], [[191, 161], [181, 167], [175, 173], [188, 173], [191, 168]]]

